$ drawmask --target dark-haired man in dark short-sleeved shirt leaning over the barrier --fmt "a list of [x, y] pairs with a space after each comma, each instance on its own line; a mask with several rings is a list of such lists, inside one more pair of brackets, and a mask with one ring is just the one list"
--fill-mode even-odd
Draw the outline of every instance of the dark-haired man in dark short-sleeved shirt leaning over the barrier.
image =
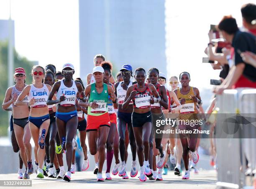
[[251, 51], [256, 53], [256, 38], [251, 33], [241, 32], [236, 24], [236, 19], [231, 16], [224, 16], [220, 21], [218, 28], [221, 35], [227, 42], [232, 43], [234, 47], [234, 62], [235, 65], [230, 69], [228, 76], [223, 83], [215, 88], [217, 94], [222, 94], [223, 90], [231, 89], [240, 77], [243, 75], [250, 80], [249, 85], [241, 85], [239, 87], [256, 88], [256, 68], [246, 64], [242, 57], [241, 52]]

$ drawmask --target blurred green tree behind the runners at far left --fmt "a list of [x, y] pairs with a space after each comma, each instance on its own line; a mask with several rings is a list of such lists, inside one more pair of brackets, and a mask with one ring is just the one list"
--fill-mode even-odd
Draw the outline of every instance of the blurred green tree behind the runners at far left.
[[[14, 56], [14, 68], [23, 67], [26, 71], [26, 83], [31, 84], [31, 69], [33, 63], [28, 61], [25, 57], [20, 56], [15, 50], [13, 51]], [[0, 41], [0, 102], [1, 105], [5, 98], [5, 92], [8, 87], [8, 41]], [[14, 84], [14, 83], [13, 83]], [[7, 135], [8, 128], [8, 112], [4, 111], [2, 108], [0, 110], [0, 136]]]

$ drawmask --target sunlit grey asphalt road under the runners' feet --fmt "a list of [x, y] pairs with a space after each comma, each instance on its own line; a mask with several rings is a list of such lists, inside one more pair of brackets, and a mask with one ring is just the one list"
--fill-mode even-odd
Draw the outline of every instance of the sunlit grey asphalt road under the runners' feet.
[[[128, 173], [129, 175], [130, 173]], [[0, 174], [0, 180], [17, 180], [18, 174]], [[105, 176], [105, 175], [104, 175]], [[79, 189], [79, 188], [104, 188], [104, 189], [214, 189], [217, 182], [216, 171], [200, 171], [199, 174], [190, 173], [189, 180], [182, 180], [181, 176], [174, 175], [173, 171], [169, 171], [168, 175], [163, 175], [163, 181], [139, 181], [138, 177], [130, 179], [121, 179], [119, 176], [112, 176], [111, 181], [97, 182], [96, 175], [92, 171], [76, 172], [72, 174], [72, 181], [67, 182], [61, 179], [52, 179], [45, 177], [44, 179], [36, 178], [36, 174], [30, 176], [32, 180], [32, 188], [36, 189]], [[1, 187], [1, 186], [0, 186]], [[5, 187], [3, 187], [5, 188]], [[6, 187], [6, 188], [31, 188], [31, 187]]]

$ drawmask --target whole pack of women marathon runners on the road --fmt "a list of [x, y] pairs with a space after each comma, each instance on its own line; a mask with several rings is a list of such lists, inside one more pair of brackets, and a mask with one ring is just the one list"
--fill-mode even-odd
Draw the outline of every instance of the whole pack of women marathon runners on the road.
[[[189, 152], [194, 167], [199, 160], [197, 134], [156, 134], [156, 129], [163, 131], [166, 128], [165, 124], [156, 126], [159, 120], [177, 117], [180, 120], [198, 119], [197, 105], [202, 104], [202, 100], [199, 90], [189, 86], [189, 73], [179, 75], [181, 87], [178, 87], [178, 78], [171, 77], [169, 84], [172, 90], [169, 91], [164, 86], [165, 75], [157, 68], [146, 72], [139, 67], [133, 72], [132, 66], [125, 64], [115, 82], [113, 65], [105, 61], [103, 55], [95, 56], [94, 65], [92, 73], [87, 75], [86, 87], [82, 79], [73, 79], [75, 69], [72, 64], [64, 64], [62, 71], [57, 73], [52, 64], [45, 68], [34, 66], [31, 70], [32, 84], [25, 84], [26, 72], [23, 68], [15, 69], [15, 85], [7, 89], [3, 109], [12, 111], [11, 140], [13, 150], [19, 151], [20, 158], [18, 178], [29, 179], [35, 171], [38, 178], [48, 176], [71, 181], [75, 172], [78, 129], [84, 153], [82, 171], [89, 168], [85, 144], [88, 135], [89, 151], [95, 158], [97, 181], [112, 179], [110, 169], [113, 157], [115, 166], [112, 174], [129, 178], [126, 170], [128, 144], [132, 152], [131, 177], [135, 177], [139, 170], [140, 181], [146, 181], [147, 177], [163, 180], [162, 170], [166, 166], [166, 150], [169, 148], [170, 161], [176, 164], [174, 174], [182, 174], [180, 165], [183, 158], [186, 171], [182, 179], [189, 179]], [[174, 130], [192, 129], [186, 124], [176, 126]], [[31, 137], [35, 143], [34, 165]], [[169, 147], [166, 148], [168, 141]], [[63, 152], [66, 154], [66, 172]], [[105, 158], [107, 170], [103, 177]], [[23, 164], [25, 172], [22, 172]]]

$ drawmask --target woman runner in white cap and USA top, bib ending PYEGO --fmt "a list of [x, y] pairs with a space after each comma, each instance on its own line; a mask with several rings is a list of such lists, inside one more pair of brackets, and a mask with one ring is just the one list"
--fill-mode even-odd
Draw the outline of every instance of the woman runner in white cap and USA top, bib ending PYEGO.
[[[65, 181], [71, 181], [71, 164], [73, 156], [73, 138], [77, 131], [77, 110], [76, 98], [77, 92], [82, 92], [82, 85], [75, 82], [72, 77], [74, 74], [74, 66], [72, 64], [64, 64], [62, 68], [64, 79], [56, 82], [49, 94], [47, 105], [57, 104], [56, 124], [63, 150], [67, 149], [67, 173], [64, 176]], [[58, 100], [52, 100], [56, 93]]]

